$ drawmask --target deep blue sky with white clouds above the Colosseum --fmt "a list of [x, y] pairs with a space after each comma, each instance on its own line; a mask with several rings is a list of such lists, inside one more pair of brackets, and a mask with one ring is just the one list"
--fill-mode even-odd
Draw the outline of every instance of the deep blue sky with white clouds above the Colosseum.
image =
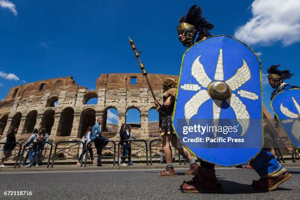
[[[260, 52], [264, 74], [281, 64], [295, 74], [288, 82], [300, 85], [300, 3], [269, 2], [0, 0], [0, 99], [25, 82], [73, 76], [79, 86], [94, 89], [100, 74], [140, 73], [128, 36], [144, 51], [149, 73], [178, 75], [186, 49], [177, 39], [177, 19], [194, 3], [215, 25], [213, 34], [236, 36]], [[270, 110], [272, 88], [263, 82]]]

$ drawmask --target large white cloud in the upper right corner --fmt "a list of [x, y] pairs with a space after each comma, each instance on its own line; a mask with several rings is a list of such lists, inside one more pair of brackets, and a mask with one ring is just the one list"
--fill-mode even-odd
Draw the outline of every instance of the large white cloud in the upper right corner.
[[250, 45], [284, 46], [300, 41], [300, 0], [254, 0], [252, 18], [234, 36]]

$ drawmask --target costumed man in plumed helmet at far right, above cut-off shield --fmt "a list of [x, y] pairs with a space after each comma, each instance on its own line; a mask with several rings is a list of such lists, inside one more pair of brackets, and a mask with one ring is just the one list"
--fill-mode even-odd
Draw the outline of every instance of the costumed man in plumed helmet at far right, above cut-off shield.
[[279, 66], [280, 65], [272, 65], [270, 68], [268, 68], [269, 83], [274, 89], [271, 95], [271, 100], [273, 100], [275, 95], [281, 91], [299, 88], [297, 86], [293, 86], [283, 82], [284, 79], [290, 79], [293, 76], [293, 74], [291, 74], [289, 70], [278, 70]]

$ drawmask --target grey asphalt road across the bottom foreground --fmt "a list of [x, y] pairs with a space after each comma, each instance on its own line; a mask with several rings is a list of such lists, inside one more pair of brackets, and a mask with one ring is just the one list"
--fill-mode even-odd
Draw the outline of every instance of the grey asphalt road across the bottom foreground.
[[292, 178], [273, 192], [257, 192], [250, 183], [257, 179], [254, 170], [217, 169], [224, 187], [222, 194], [184, 194], [179, 190], [185, 170], [176, 177], [158, 177], [158, 170], [111, 170], [85, 172], [0, 173], [0, 199], [4, 191], [32, 191], [32, 197], [5, 197], [31, 200], [299, 200], [300, 168], [290, 168]]

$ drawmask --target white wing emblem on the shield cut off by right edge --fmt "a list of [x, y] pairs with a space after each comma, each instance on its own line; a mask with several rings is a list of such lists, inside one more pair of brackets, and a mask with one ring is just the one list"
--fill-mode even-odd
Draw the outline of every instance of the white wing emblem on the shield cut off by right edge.
[[[287, 107], [284, 107], [282, 105], [282, 103], [280, 104], [280, 111], [282, 112], [282, 114], [284, 114], [285, 116], [292, 118], [292, 119], [299, 119], [299, 114], [300, 114], [300, 106], [297, 103], [297, 101], [295, 100], [294, 97], [292, 97], [292, 100], [294, 102], [294, 105], [298, 111], [298, 114], [293, 113], [292, 111], [290, 111]], [[282, 121], [282, 123], [290, 123], [290, 121]], [[293, 126], [292, 126], [292, 134], [298, 139], [300, 140], [300, 121], [299, 120], [295, 120]]]

